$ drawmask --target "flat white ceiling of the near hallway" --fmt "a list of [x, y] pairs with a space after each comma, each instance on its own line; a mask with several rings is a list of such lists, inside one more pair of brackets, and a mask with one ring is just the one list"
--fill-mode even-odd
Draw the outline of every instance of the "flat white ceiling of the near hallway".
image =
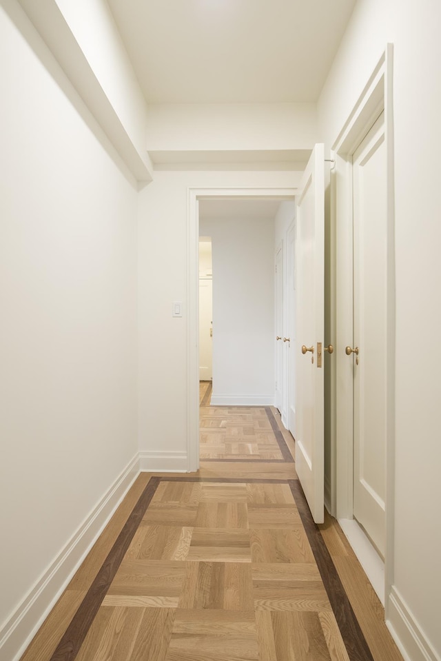
[[107, 0], [147, 103], [316, 101], [356, 0]]

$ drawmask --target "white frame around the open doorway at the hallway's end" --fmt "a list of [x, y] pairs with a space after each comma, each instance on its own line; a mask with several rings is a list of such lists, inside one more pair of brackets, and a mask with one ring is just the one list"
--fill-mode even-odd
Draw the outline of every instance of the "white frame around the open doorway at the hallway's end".
[[187, 189], [187, 471], [199, 468], [199, 201], [294, 200], [297, 188]]

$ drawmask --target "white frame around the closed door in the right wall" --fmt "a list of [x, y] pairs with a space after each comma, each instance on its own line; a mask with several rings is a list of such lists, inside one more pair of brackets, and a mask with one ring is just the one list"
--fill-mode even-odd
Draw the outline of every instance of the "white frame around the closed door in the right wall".
[[353, 518], [353, 401], [352, 360], [345, 345], [353, 339], [353, 207], [352, 154], [384, 111], [387, 159], [387, 450], [386, 450], [386, 552], [384, 560], [384, 602], [388, 617], [388, 596], [393, 585], [393, 533], [395, 489], [395, 216], [393, 179], [393, 46], [387, 44], [365, 89], [332, 145], [335, 161], [331, 172], [331, 194], [335, 195], [336, 217], [336, 442], [333, 448], [336, 471], [335, 502], [332, 513], [338, 519]]

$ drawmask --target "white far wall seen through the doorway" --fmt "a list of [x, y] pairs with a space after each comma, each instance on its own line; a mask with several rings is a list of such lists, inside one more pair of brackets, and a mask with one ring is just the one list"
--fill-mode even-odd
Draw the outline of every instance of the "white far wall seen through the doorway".
[[274, 219], [199, 223], [212, 237], [216, 405], [274, 404]]

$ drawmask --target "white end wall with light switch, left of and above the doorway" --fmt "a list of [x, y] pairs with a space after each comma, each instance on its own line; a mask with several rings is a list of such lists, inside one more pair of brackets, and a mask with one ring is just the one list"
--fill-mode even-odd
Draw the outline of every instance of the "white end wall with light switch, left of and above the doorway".
[[[146, 469], [186, 470], [188, 465], [189, 187], [286, 188], [296, 187], [299, 179], [297, 172], [156, 172], [140, 193], [139, 438]], [[165, 261], [161, 245], [167, 245]], [[183, 301], [182, 318], [172, 318], [173, 301]]]

